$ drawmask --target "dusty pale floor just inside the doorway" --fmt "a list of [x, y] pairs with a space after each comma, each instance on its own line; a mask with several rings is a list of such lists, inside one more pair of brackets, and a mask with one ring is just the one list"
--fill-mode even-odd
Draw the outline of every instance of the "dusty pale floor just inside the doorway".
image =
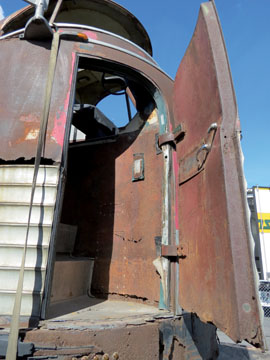
[[81, 296], [51, 305], [48, 319], [40, 322], [40, 325], [47, 329], [100, 329], [136, 325], [172, 316], [167, 310], [138, 302]]

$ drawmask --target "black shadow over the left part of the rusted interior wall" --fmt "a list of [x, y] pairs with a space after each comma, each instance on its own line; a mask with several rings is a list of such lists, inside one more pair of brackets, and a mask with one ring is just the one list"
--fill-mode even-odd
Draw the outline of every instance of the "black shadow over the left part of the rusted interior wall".
[[[109, 142], [102, 139], [95, 143], [86, 141], [69, 148], [60, 221], [77, 226], [72, 256], [95, 259], [91, 293], [103, 300], [110, 293], [109, 272], [116, 216], [115, 161], [131, 146], [139, 132], [118, 135]], [[124, 215], [122, 216], [124, 221]], [[71, 303], [72, 301], [66, 309], [61, 310], [61, 314], [70, 312], [69, 308], [76, 311], [83, 306], [93, 305], [91, 298], [88, 305], [79, 304], [76, 299], [72, 305]], [[51, 308], [52, 306], [57, 307], [52, 304]]]

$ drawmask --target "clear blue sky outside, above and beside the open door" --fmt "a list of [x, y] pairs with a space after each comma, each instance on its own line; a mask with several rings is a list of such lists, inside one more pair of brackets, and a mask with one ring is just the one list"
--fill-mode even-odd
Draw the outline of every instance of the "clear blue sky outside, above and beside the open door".
[[[148, 31], [154, 58], [175, 77], [192, 36], [201, 1], [118, 0]], [[22, 0], [0, 0], [4, 15]], [[248, 186], [270, 186], [270, 1], [216, 0], [242, 125]], [[0, 9], [1, 17], [1, 9]]]

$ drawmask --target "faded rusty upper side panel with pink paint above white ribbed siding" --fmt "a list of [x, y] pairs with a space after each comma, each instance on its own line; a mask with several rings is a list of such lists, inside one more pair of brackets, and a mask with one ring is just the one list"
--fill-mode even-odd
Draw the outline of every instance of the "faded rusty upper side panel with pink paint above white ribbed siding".
[[[44, 157], [60, 161], [75, 59], [61, 44], [56, 67]], [[43, 110], [50, 44], [1, 41], [0, 159], [31, 159], [36, 155]], [[6, 64], [9, 71], [6, 71]]]

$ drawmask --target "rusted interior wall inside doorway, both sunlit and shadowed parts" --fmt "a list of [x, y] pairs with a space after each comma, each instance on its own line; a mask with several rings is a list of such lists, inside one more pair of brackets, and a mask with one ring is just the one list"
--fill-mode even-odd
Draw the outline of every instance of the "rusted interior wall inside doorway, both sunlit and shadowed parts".
[[[78, 225], [76, 255], [95, 258], [95, 293], [159, 301], [160, 277], [152, 263], [162, 217], [163, 159], [154, 146], [158, 128], [157, 116], [150, 116], [141, 132], [69, 151], [61, 221]], [[144, 180], [133, 181], [133, 155], [140, 153]]]

